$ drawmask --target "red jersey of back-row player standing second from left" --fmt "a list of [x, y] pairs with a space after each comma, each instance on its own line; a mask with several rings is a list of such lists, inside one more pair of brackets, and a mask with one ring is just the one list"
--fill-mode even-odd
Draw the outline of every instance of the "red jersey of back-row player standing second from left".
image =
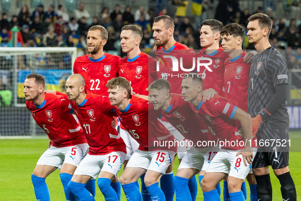
[[150, 60], [155, 59], [145, 53], [140, 53], [133, 59], [127, 57], [122, 59], [118, 66], [118, 76], [125, 78], [130, 82], [132, 91], [141, 95], [148, 95], [146, 88], [149, 83], [148, 65]]

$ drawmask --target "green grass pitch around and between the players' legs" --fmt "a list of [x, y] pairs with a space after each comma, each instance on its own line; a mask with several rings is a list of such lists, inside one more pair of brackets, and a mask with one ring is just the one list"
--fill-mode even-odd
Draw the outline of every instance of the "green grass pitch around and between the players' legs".
[[[290, 132], [291, 153], [289, 168], [297, 189], [297, 200], [301, 200], [301, 132]], [[2, 139], [0, 140], [0, 200], [35, 200], [34, 187], [31, 181], [31, 173], [39, 157], [48, 147], [47, 139]], [[176, 159], [174, 174], [178, 167]], [[119, 172], [121, 175], [123, 169]], [[271, 172], [271, 171], [270, 171]], [[60, 181], [59, 170], [50, 174], [46, 183], [48, 185], [51, 201], [66, 200], [63, 186]], [[282, 200], [280, 183], [271, 172], [273, 187], [273, 200]], [[197, 200], [203, 200], [200, 186]], [[223, 183], [221, 183], [223, 192]], [[248, 199], [250, 191], [248, 189]], [[96, 200], [104, 200], [104, 197], [96, 186]], [[223, 194], [223, 193], [222, 193]], [[121, 200], [126, 200], [122, 191]], [[223, 198], [222, 198], [223, 200]]]

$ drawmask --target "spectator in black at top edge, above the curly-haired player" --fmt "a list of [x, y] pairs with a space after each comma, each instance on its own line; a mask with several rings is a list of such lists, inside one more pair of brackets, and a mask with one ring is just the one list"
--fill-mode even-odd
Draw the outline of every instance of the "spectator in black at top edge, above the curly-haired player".
[[216, 7], [215, 19], [223, 22], [224, 25], [228, 21], [232, 21], [236, 13], [239, 12], [238, 0], [224, 0], [220, 1]]

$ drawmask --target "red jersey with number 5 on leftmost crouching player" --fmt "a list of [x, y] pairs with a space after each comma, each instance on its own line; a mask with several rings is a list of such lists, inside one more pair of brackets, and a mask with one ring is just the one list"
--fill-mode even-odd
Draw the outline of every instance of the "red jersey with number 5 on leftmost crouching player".
[[72, 115], [68, 98], [45, 93], [42, 105], [36, 106], [34, 102], [26, 101], [26, 107], [39, 127], [48, 135], [52, 146], [66, 147], [87, 143], [83, 130]]

